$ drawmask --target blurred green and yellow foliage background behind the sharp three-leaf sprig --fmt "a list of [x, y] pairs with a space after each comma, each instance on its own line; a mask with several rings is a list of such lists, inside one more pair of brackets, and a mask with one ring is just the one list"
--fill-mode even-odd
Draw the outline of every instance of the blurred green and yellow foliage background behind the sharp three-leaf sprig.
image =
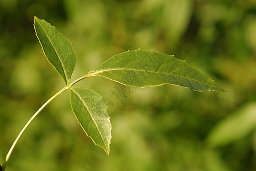
[[199, 68], [226, 89], [130, 88], [89, 78], [114, 103], [110, 156], [86, 137], [69, 104], [55, 99], [18, 142], [7, 170], [256, 170], [254, 0], [0, 0], [0, 163], [23, 125], [65, 86], [45, 59], [34, 15], [73, 42], [73, 80], [127, 50], [155, 50]]

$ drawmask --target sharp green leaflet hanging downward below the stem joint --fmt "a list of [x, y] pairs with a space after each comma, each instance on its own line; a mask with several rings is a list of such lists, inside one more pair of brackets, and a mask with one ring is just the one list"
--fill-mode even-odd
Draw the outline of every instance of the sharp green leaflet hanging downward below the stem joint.
[[101, 96], [86, 88], [70, 87], [71, 107], [86, 135], [109, 154], [111, 123]]

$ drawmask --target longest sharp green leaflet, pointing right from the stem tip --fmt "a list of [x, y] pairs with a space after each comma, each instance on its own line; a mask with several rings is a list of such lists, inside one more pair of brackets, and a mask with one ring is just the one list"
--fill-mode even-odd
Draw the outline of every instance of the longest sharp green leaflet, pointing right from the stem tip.
[[184, 60], [154, 51], [127, 51], [106, 60], [91, 76], [135, 87], [173, 84], [195, 91], [225, 91]]

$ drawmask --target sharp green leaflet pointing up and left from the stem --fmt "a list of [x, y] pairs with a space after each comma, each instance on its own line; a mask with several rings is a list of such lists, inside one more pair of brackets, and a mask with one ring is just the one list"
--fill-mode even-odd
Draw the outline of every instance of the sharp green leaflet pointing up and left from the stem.
[[47, 60], [68, 85], [75, 67], [75, 52], [72, 44], [50, 23], [34, 18], [35, 34]]

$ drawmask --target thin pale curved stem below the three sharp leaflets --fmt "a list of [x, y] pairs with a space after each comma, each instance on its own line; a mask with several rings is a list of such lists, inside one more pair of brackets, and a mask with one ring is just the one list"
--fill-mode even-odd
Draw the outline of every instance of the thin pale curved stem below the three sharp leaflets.
[[64, 88], [62, 88], [59, 92], [55, 93], [55, 95], [53, 95], [53, 97], [51, 97], [49, 100], [46, 101], [45, 104], [43, 104], [41, 106], [41, 108], [38, 109], [37, 112], [35, 112], [35, 114], [31, 117], [31, 119], [27, 122], [27, 124], [23, 127], [23, 129], [21, 130], [21, 132], [19, 133], [19, 135], [17, 136], [17, 138], [15, 139], [13, 145], [11, 146], [9, 152], [6, 155], [5, 158], [5, 162], [3, 162], [3, 166], [2, 166], [2, 171], [5, 171], [7, 162], [9, 161], [9, 158], [11, 156], [11, 153], [13, 152], [13, 149], [15, 147], [15, 145], [17, 144], [18, 140], [20, 139], [20, 137], [22, 136], [23, 132], [26, 130], [26, 128], [29, 126], [29, 124], [34, 120], [34, 118], [46, 107], [47, 104], [49, 104], [53, 99], [55, 99], [55, 97], [61, 95], [61, 93], [63, 91], [66, 91], [69, 88], [69, 86], [66, 86]]

